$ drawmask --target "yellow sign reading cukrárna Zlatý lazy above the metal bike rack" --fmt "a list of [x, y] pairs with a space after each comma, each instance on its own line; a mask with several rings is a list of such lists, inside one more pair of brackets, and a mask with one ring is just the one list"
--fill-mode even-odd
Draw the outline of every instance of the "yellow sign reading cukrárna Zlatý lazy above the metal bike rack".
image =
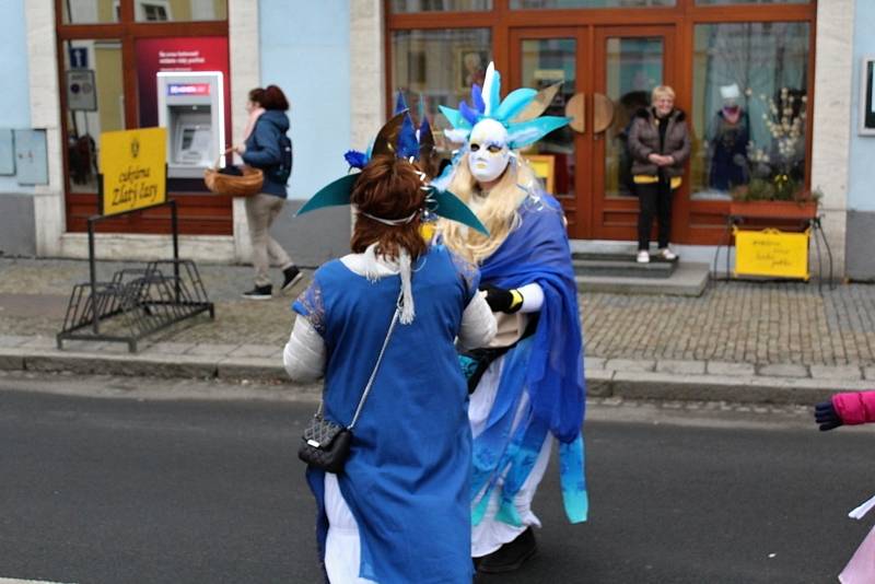
[[145, 128], [101, 135], [101, 214], [113, 215], [167, 200], [167, 130]]

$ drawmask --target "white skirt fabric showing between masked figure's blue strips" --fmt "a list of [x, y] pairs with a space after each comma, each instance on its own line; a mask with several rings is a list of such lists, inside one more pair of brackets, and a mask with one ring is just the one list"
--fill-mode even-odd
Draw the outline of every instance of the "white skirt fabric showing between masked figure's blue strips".
[[[468, 420], [470, 421], [471, 433], [475, 439], [486, 429], [486, 423], [489, 420], [489, 412], [492, 411], [492, 406], [498, 395], [503, 364], [503, 358], [490, 364], [489, 369], [486, 370], [483, 376], [480, 378], [477, 389], [471, 394], [470, 405], [468, 406]], [[512, 432], [520, 425], [522, 414], [527, 406], [528, 394], [524, 394], [520, 400], [520, 407], [516, 410], [515, 419], [512, 424]], [[552, 436], [548, 434], [540, 447], [538, 459], [535, 462], [532, 472], [523, 482], [520, 492], [516, 493], [513, 499], [513, 504], [517, 513], [520, 513], [520, 517], [523, 519], [523, 525], [518, 527], [495, 519], [495, 514], [499, 511], [499, 493], [501, 492], [501, 487], [504, 484], [504, 477], [502, 476], [499, 478], [489, 498], [489, 503], [487, 504], [482, 521], [471, 529], [472, 558], [480, 558], [492, 553], [504, 544], [516, 539], [520, 534], [532, 525], [540, 527], [540, 519], [532, 512], [532, 500], [535, 498], [538, 484], [540, 484], [544, 472], [547, 470], [547, 464], [550, 462], [551, 446]]]

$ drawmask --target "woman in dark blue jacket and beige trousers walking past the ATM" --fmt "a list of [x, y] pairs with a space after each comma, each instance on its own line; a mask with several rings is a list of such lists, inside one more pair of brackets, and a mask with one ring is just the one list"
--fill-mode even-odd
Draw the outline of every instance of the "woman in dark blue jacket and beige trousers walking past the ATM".
[[243, 162], [264, 171], [261, 192], [246, 198], [246, 221], [253, 246], [255, 288], [244, 292], [249, 300], [269, 300], [273, 284], [268, 273], [271, 262], [282, 269], [280, 292], [290, 291], [302, 278], [289, 254], [270, 235], [270, 227], [285, 205], [285, 185], [292, 173], [292, 142], [287, 136], [289, 101], [277, 85], [249, 92], [249, 114], [243, 144], [234, 147]]

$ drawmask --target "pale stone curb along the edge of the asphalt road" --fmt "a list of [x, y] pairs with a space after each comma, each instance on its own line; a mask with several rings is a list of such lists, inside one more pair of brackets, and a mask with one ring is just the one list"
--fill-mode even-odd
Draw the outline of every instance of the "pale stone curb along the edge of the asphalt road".
[[[838, 392], [872, 389], [875, 381], [803, 377], [802, 365], [785, 365], [795, 376], [758, 375], [749, 364], [587, 359], [587, 395], [627, 399], [810, 405]], [[682, 365], [682, 366], [681, 366]], [[658, 371], [660, 369], [672, 371]], [[733, 370], [732, 367], [735, 367]], [[810, 367], [815, 371], [817, 366]], [[821, 367], [826, 369], [826, 367]], [[842, 370], [842, 367], [837, 367]], [[853, 367], [843, 367], [853, 369]], [[289, 382], [280, 359], [202, 354], [95, 354], [26, 347], [0, 348], [0, 370], [79, 375], [220, 378]], [[656, 370], [656, 371], [654, 371]], [[720, 371], [708, 373], [709, 370]], [[766, 365], [761, 371], [781, 371]]]

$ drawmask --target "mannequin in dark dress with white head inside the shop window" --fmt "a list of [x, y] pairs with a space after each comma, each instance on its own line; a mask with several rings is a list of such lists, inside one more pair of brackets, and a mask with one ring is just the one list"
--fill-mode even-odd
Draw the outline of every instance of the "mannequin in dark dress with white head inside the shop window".
[[750, 120], [738, 105], [738, 85], [720, 87], [721, 107], [708, 127], [708, 184], [712, 189], [728, 191], [748, 182], [747, 143], [750, 141]]

